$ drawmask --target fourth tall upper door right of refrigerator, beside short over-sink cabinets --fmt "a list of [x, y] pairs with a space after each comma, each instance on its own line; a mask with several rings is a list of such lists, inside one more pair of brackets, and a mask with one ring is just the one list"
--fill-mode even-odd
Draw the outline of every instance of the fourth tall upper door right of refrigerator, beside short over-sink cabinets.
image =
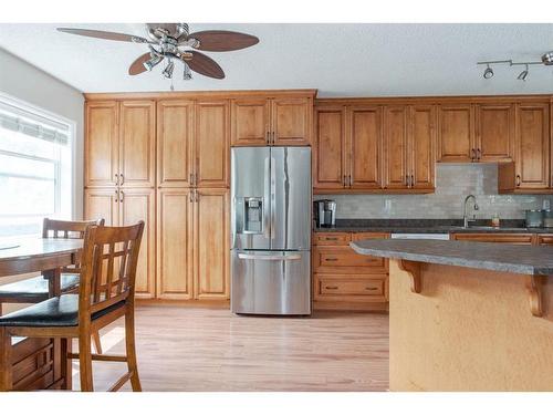
[[414, 189], [434, 189], [436, 107], [414, 105], [410, 107], [409, 118], [409, 186]]

